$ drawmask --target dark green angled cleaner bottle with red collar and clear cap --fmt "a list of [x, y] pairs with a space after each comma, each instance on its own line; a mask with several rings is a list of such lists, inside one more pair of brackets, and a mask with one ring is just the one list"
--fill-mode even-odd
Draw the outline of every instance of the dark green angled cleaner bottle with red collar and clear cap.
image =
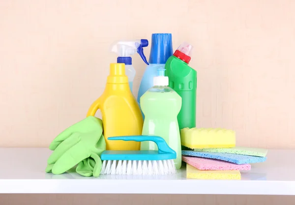
[[179, 129], [196, 127], [197, 71], [188, 66], [192, 48], [190, 44], [182, 43], [165, 64], [169, 87], [182, 98], [177, 116]]

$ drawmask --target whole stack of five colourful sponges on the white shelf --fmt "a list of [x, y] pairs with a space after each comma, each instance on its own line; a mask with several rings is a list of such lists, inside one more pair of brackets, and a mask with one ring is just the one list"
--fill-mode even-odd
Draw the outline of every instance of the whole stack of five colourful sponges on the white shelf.
[[241, 170], [266, 161], [267, 149], [236, 146], [236, 132], [222, 128], [180, 130], [182, 161], [186, 177], [198, 179], [241, 179]]

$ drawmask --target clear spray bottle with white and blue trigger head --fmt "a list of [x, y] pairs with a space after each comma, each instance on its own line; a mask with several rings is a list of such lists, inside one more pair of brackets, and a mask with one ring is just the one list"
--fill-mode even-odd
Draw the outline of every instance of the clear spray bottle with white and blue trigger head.
[[121, 40], [113, 43], [111, 51], [118, 55], [117, 63], [125, 63], [125, 74], [128, 77], [129, 87], [132, 92], [133, 80], [136, 70], [132, 66], [131, 56], [138, 53], [143, 61], [148, 65], [148, 61], [144, 55], [144, 47], [148, 46], [147, 39], [140, 40]]

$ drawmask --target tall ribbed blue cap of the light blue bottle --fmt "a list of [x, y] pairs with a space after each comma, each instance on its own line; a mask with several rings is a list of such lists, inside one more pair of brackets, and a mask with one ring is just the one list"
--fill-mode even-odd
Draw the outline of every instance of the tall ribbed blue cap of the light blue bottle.
[[151, 48], [148, 62], [152, 64], [165, 64], [167, 59], [172, 55], [172, 34], [151, 34]]

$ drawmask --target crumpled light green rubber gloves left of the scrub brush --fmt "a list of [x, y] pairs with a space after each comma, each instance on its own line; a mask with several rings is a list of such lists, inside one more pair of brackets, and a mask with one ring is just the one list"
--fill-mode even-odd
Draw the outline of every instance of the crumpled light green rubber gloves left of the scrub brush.
[[50, 144], [54, 152], [48, 158], [46, 172], [59, 175], [78, 164], [82, 176], [99, 176], [100, 154], [106, 149], [102, 121], [89, 116], [60, 133]]

